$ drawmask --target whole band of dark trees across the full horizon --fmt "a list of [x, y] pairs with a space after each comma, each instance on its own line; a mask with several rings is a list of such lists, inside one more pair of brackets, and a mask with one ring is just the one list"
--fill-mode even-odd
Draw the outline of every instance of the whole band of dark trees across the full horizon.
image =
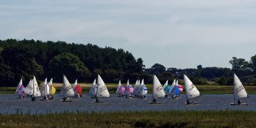
[[72, 83], [92, 83], [97, 74], [106, 83], [123, 83], [129, 79], [145, 79], [152, 83], [152, 74], [156, 74], [164, 83], [167, 79], [182, 78], [187, 74], [195, 84], [232, 84], [232, 74], [236, 72], [245, 84], [256, 85], [256, 55], [251, 61], [232, 58], [230, 68], [205, 67], [177, 69], [165, 68], [156, 63], [145, 68], [141, 58], [134, 58], [131, 52], [111, 47], [99, 47], [92, 44], [67, 44], [66, 42], [42, 42], [40, 40], [0, 40], [0, 86], [17, 86], [22, 78], [24, 83], [36, 76], [39, 80], [53, 77], [55, 83], [63, 81], [63, 74]]

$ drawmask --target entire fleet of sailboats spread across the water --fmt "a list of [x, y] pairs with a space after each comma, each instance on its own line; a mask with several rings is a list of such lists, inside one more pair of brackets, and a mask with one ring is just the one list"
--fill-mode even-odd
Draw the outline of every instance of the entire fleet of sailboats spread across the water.
[[[97, 84], [96, 84], [97, 82]], [[184, 87], [186, 92], [186, 104], [197, 104], [197, 102], [191, 102], [190, 100], [200, 96], [200, 92], [196, 88], [196, 86], [190, 81], [190, 79], [184, 74]], [[174, 79], [172, 86], [168, 85], [168, 80], [164, 84], [161, 85], [159, 79], [157, 79], [156, 75], [153, 76], [153, 86], [152, 86], [152, 101], [150, 104], [162, 104], [163, 102], [157, 102], [157, 99], [167, 98], [166, 95], [172, 95], [172, 97], [177, 97], [179, 92], [183, 91], [183, 87], [178, 84], [178, 80]], [[38, 83], [36, 81], [35, 76], [28, 83], [28, 86], [24, 88], [22, 84], [22, 79], [17, 86], [15, 91], [16, 95], [19, 95], [18, 99], [24, 99], [24, 95], [31, 95], [31, 100], [35, 101], [36, 97], [44, 97], [42, 100], [50, 100], [53, 99], [53, 94], [56, 92], [55, 87], [52, 84], [52, 79], [47, 84], [47, 78], [45, 78], [44, 83], [42, 84], [42, 88], [39, 90]], [[77, 84], [77, 79], [72, 87], [65, 75], [63, 75], [63, 86], [61, 88], [60, 95], [63, 97], [61, 101], [63, 102], [71, 102], [71, 97], [81, 97], [82, 88]], [[103, 79], [99, 76], [93, 81], [92, 86], [88, 95], [92, 95], [93, 98], [96, 98], [95, 102], [99, 101], [99, 98], [102, 97], [110, 97], [108, 88], [104, 83]], [[144, 84], [144, 79], [136, 80], [134, 84], [134, 88], [129, 84], [129, 79], [127, 80], [126, 86], [121, 84], [121, 81], [118, 83], [118, 87], [116, 89], [116, 95], [121, 97], [125, 95], [126, 97], [142, 97], [145, 98], [147, 95], [147, 87]], [[239, 78], [234, 74], [234, 103], [230, 103], [231, 105], [248, 105], [246, 103], [241, 103], [241, 99], [247, 98], [248, 95], [246, 90], [244, 89], [243, 84], [239, 80]]]

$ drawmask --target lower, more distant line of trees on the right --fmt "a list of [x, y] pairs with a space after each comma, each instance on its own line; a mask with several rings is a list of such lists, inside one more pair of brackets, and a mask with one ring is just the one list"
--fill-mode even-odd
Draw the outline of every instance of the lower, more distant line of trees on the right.
[[251, 57], [250, 61], [243, 58], [233, 57], [229, 61], [232, 68], [219, 68], [219, 67], [202, 67], [198, 65], [197, 68], [167, 68], [163, 65], [156, 63], [151, 68], [145, 69], [149, 74], [163, 74], [163, 72], [171, 72], [173, 77], [183, 79], [183, 74], [189, 76], [189, 79], [194, 84], [209, 84], [207, 81], [214, 82], [213, 84], [219, 85], [232, 85], [233, 74], [236, 73], [244, 85], [256, 86], [256, 54]]

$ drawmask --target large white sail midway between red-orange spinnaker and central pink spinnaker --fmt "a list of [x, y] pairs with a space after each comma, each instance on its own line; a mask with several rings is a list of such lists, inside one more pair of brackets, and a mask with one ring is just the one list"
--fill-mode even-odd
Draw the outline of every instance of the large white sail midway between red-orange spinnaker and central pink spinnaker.
[[109, 92], [106, 84], [102, 80], [102, 78], [98, 74], [98, 79], [97, 79], [97, 93], [96, 97], [109, 97]]

